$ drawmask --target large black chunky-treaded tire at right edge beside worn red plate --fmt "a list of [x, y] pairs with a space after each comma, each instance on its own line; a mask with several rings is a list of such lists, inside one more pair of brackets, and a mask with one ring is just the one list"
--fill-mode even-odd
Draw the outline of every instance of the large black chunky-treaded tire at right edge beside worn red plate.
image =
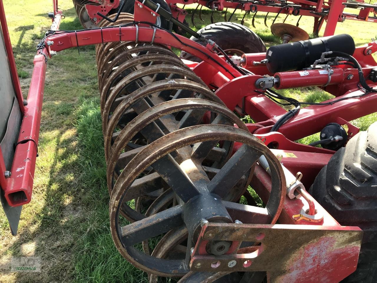
[[339, 149], [316, 177], [313, 197], [341, 225], [359, 226], [359, 262], [345, 283], [377, 282], [377, 122]]

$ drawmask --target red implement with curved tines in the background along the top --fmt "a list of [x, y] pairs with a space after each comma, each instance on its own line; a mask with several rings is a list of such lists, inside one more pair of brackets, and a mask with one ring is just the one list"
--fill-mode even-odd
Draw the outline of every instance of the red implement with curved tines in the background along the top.
[[[107, 18], [107, 15], [116, 14], [117, 12], [127, 12], [133, 14], [135, 0], [73, 0], [78, 18], [85, 28], [95, 28], [101, 20]], [[241, 24], [244, 24], [246, 17], [252, 18], [252, 25], [255, 28], [254, 20], [258, 12], [266, 12], [264, 18], [265, 26], [268, 26], [267, 16], [274, 15], [274, 24], [279, 15], [285, 15], [283, 23], [289, 15], [297, 16], [296, 26], [302, 16], [310, 16], [314, 19], [313, 34], [318, 36], [323, 22], [327, 22], [324, 36], [333, 35], [338, 22], [344, 20], [359, 20], [366, 22], [377, 22], [377, 5], [365, 3], [363, 0], [347, 1], [342, 3], [341, 0], [291, 0], [291, 1], [275, 1], [275, 0], [155, 0], [162, 8], [171, 12], [172, 16], [180, 22], [186, 23], [185, 17], [187, 11], [184, 9], [186, 5], [195, 4], [196, 8], [192, 12], [191, 22], [195, 25], [195, 14], [199, 14], [202, 19], [202, 8], [208, 8], [211, 12], [211, 22], [213, 22], [213, 13], [215, 11], [224, 11], [224, 21], [231, 22], [235, 11], [244, 11]], [[182, 8], [177, 6], [180, 4]], [[200, 7], [200, 8], [199, 8]], [[352, 14], [344, 11], [345, 8], [353, 8], [359, 10], [359, 14]], [[198, 10], [199, 9], [199, 10]], [[228, 9], [233, 9], [231, 14], [227, 14]], [[107, 18], [108, 19], [108, 18]], [[187, 23], [186, 23], [187, 24]], [[162, 24], [162, 27], [168, 26]], [[185, 31], [174, 25], [174, 30], [178, 33]], [[170, 26], [172, 28], [172, 26]]]

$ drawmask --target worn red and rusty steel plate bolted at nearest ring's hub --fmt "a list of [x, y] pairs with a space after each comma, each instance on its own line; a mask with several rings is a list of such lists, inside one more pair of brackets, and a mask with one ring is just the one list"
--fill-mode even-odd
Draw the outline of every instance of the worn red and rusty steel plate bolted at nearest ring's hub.
[[[273, 283], [319, 282], [318, 276], [322, 283], [336, 283], [356, 270], [362, 236], [359, 227], [349, 226], [208, 223], [202, 227], [190, 270], [267, 271]], [[199, 253], [212, 240], [261, 245], [247, 254]]]

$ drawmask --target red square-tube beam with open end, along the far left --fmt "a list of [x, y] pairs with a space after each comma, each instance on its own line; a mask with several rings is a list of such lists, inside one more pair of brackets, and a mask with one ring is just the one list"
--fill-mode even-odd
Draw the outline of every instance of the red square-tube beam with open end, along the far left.
[[[57, 9], [57, 1], [54, 2], [54, 12], [56, 11], [55, 9]], [[48, 54], [48, 51], [44, 48], [38, 51], [38, 54], [34, 57], [34, 69], [28, 98], [26, 100], [28, 105], [24, 106], [2, 1], [0, 1], [0, 20], [8, 52], [8, 59], [11, 65], [11, 72], [15, 82], [16, 95], [23, 115], [20, 134], [18, 135], [17, 146], [15, 148], [11, 166], [11, 176], [9, 178], [4, 178], [3, 172], [6, 171], [6, 168], [3, 156], [0, 154], [0, 185], [4, 191], [8, 204], [10, 206], [21, 206], [29, 203], [32, 195], [44, 83], [46, 79], [46, 54]], [[61, 15], [57, 14], [52, 23], [51, 29], [58, 29], [60, 20]]]

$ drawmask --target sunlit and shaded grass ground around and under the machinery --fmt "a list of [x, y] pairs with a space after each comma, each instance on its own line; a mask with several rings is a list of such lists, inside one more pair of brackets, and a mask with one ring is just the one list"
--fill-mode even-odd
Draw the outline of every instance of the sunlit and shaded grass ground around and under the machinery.
[[[47, 13], [52, 10], [52, 3], [3, 3], [26, 95], [35, 46], [51, 25]], [[71, 0], [60, 1], [59, 8], [66, 16], [61, 29], [81, 28]], [[267, 46], [279, 43], [279, 38], [264, 26], [262, 14], [256, 17], [255, 31]], [[196, 29], [210, 23], [209, 11], [204, 11], [203, 16], [204, 23], [196, 19], [201, 24]], [[241, 18], [242, 14], [236, 13], [233, 20], [239, 22]], [[222, 14], [215, 14], [215, 20], [223, 20]], [[269, 25], [272, 20], [272, 16], [268, 17]], [[296, 21], [294, 16], [287, 20], [294, 24]], [[250, 26], [251, 19], [245, 25]], [[300, 27], [311, 31], [311, 26], [312, 18], [303, 17]], [[336, 34], [349, 33], [357, 45], [362, 45], [377, 35], [376, 27], [373, 23], [348, 20], [338, 24]], [[315, 88], [284, 93], [313, 102], [330, 97]], [[80, 56], [77, 49], [72, 49], [49, 60], [33, 197], [23, 207], [17, 236], [11, 236], [6, 217], [0, 212], [0, 282], [147, 282], [146, 274], [120, 256], [110, 236], [98, 98], [94, 46], [80, 48]], [[365, 130], [376, 120], [374, 113], [355, 124]], [[40, 257], [41, 272], [10, 273], [11, 258], [25, 256]]]

